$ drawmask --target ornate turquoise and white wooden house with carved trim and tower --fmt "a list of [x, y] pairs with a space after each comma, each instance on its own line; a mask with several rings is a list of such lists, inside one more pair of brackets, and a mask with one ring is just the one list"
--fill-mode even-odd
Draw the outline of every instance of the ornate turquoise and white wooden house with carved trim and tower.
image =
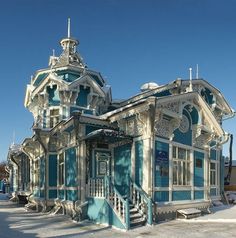
[[[221, 124], [233, 111], [218, 89], [178, 79], [113, 101], [70, 31], [60, 44], [61, 55], [35, 73], [25, 97], [34, 117], [33, 136], [21, 145], [30, 163], [25, 188], [38, 210], [129, 229], [220, 198], [228, 139]], [[16, 157], [9, 160], [20, 171]], [[22, 188], [14, 176], [13, 191]]]

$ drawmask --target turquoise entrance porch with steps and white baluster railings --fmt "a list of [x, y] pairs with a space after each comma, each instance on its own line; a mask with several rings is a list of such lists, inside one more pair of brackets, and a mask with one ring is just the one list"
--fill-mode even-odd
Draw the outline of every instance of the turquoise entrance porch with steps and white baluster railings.
[[86, 196], [91, 220], [126, 230], [152, 224], [152, 200], [131, 179], [129, 192], [121, 195], [111, 177], [90, 178], [86, 185]]

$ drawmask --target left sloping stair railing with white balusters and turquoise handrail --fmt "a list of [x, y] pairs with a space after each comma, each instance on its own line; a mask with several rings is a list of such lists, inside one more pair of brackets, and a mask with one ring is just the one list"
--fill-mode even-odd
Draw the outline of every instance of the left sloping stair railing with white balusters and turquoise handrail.
[[128, 230], [130, 228], [129, 199], [125, 200], [122, 197], [108, 176], [105, 177], [105, 197], [113, 211], [118, 215]]

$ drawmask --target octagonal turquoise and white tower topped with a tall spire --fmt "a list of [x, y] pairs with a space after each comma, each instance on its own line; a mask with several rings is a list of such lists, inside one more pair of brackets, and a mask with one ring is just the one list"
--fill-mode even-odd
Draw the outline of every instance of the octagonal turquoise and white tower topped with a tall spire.
[[53, 50], [49, 67], [38, 70], [27, 86], [25, 107], [33, 113], [34, 126], [52, 128], [73, 111], [99, 115], [107, 110], [110, 87], [99, 72], [85, 66], [78, 44], [71, 37], [69, 18], [67, 37], [60, 41], [60, 56]]

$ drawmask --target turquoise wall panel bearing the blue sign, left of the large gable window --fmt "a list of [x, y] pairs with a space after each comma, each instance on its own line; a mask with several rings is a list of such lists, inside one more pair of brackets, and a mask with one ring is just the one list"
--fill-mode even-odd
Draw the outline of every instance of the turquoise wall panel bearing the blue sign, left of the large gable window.
[[155, 187], [169, 187], [169, 144], [160, 141], [155, 142], [154, 163]]

